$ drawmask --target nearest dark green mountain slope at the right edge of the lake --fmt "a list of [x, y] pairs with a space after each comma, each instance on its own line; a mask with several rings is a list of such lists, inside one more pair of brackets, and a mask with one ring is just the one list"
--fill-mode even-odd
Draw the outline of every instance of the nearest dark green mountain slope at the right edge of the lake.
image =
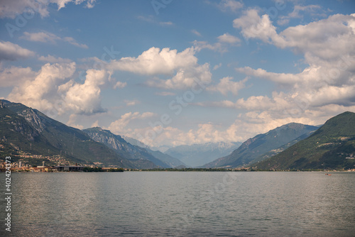
[[330, 118], [311, 136], [282, 153], [253, 164], [261, 169], [354, 169], [355, 114]]

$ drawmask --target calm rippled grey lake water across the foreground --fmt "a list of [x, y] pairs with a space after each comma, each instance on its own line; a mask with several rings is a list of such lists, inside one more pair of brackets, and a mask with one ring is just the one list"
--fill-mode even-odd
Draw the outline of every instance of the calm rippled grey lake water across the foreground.
[[[13, 173], [7, 236], [355, 236], [355, 173]], [[5, 175], [0, 174], [4, 234]]]

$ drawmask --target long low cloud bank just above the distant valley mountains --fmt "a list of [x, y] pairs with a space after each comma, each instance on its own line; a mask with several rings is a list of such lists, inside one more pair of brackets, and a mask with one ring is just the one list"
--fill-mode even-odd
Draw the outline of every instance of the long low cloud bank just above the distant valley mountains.
[[[251, 111], [246, 114], [240, 114], [233, 123], [225, 127], [213, 123], [200, 123], [197, 125], [197, 128], [190, 129], [189, 131], [182, 131], [181, 129], [172, 126], [148, 126], [129, 129], [125, 128], [128, 123], [122, 123], [120, 126], [121, 129], [116, 130], [116, 133], [136, 138], [151, 146], [191, 145], [209, 142], [217, 143], [222, 141], [243, 142], [259, 133], [266, 133], [273, 128], [290, 122], [320, 124], [319, 121], [313, 121], [310, 118], [277, 118], [268, 111]], [[110, 128], [115, 128], [115, 126], [110, 126]]]

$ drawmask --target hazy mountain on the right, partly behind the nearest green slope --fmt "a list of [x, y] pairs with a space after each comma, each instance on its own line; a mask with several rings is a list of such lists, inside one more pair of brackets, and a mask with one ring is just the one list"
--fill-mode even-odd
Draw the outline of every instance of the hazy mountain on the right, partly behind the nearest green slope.
[[203, 167], [239, 167], [268, 158], [284, 150], [296, 141], [305, 138], [317, 129], [300, 123], [288, 123], [275, 128], [268, 133], [259, 134], [246, 140], [233, 153], [207, 163]]

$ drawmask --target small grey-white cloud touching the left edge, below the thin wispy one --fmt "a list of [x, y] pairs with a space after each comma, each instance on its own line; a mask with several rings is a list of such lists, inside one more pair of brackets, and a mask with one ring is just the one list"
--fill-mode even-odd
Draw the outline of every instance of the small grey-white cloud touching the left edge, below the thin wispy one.
[[0, 41], [0, 61], [2, 60], [18, 60], [21, 58], [31, 57], [35, 53], [19, 45], [9, 41]]

